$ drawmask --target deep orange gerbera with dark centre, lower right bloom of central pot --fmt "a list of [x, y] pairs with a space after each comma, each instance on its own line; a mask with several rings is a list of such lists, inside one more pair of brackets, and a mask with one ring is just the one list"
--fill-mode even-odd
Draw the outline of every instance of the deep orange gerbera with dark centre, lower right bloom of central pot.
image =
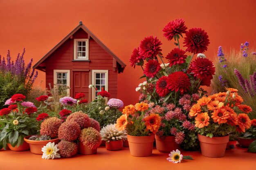
[[161, 124], [161, 117], [158, 114], [151, 113], [144, 118], [146, 129], [154, 134], [158, 131]]

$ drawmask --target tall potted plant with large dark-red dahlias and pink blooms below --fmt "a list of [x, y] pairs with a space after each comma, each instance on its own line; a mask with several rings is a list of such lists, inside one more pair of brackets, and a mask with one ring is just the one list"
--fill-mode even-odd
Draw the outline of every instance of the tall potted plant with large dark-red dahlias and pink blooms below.
[[[202, 54], [209, 45], [207, 33], [201, 28], [187, 29], [183, 19], [173, 20], [164, 27], [164, 37], [174, 40], [176, 45], [167, 56], [161, 53], [162, 42], [149, 36], [141, 40], [130, 57], [130, 65], [141, 67], [144, 73], [141, 78], [146, 78], [136, 88], [141, 93], [139, 101], [148, 103], [154, 110], [152, 113], [162, 117], [156, 134], [160, 152], [171, 152], [179, 145], [185, 150], [199, 149], [194, 119], [188, 114], [191, 106], [205, 93], [200, 86], [210, 86], [215, 68]], [[185, 49], [182, 49], [180, 39], [184, 34]], [[200, 40], [193, 38], [197, 36]], [[196, 54], [197, 58], [191, 62]]]

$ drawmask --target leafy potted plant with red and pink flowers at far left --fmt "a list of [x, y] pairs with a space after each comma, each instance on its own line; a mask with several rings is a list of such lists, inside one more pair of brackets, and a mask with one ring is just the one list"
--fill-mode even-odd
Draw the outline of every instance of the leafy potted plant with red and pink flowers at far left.
[[[0, 145], [13, 151], [29, 150], [29, 145], [24, 141], [27, 135], [37, 134], [39, 123], [36, 121], [37, 108], [32, 102], [23, 102], [26, 97], [15, 94], [5, 102], [8, 108], [0, 110], [1, 127]], [[1, 148], [2, 148], [1, 147]]]

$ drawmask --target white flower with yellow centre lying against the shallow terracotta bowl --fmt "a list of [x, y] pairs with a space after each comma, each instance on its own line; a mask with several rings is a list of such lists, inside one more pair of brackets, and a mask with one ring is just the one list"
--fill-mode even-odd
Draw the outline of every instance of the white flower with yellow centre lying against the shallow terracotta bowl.
[[44, 159], [54, 159], [54, 158], [60, 158], [60, 154], [58, 152], [58, 144], [54, 144], [54, 142], [49, 142], [42, 148], [42, 158]]

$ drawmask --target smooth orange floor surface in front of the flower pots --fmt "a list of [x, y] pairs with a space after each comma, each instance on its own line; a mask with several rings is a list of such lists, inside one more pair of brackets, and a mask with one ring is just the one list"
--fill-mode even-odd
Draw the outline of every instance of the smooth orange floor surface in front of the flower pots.
[[30, 151], [0, 150], [0, 170], [256, 170], [256, 153], [239, 146], [227, 150], [222, 158], [204, 157], [200, 151], [182, 154], [193, 155], [194, 160], [171, 163], [166, 161], [168, 154], [155, 148], [150, 157], [133, 157], [129, 148], [108, 151], [100, 146], [94, 155], [53, 160], [42, 159]]

